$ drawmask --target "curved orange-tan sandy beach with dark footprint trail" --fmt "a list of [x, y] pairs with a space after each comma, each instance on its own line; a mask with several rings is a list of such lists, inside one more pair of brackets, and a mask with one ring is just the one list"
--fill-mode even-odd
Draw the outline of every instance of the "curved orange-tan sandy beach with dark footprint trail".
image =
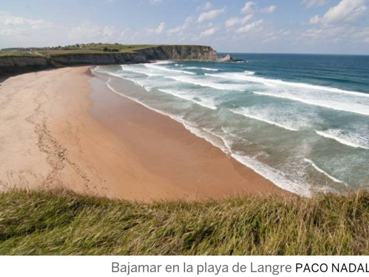
[[[127, 81], [127, 90], [138, 89]], [[0, 186], [128, 200], [285, 193], [169, 117], [110, 91], [90, 67], [0, 86]]]

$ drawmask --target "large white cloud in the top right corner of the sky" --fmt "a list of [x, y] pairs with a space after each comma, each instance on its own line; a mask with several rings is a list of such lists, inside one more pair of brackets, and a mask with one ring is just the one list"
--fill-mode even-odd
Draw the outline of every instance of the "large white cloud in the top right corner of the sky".
[[368, 12], [365, 6], [366, 0], [342, 0], [337, 6], [331, 7], [323, 17], [315, 15], [310, 19], [311, 24], [325, 23], [348, 23], [356, 22]]

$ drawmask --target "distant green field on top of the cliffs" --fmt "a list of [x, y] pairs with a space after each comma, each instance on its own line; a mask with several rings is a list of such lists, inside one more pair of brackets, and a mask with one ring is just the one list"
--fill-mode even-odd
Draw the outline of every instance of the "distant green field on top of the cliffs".
[[[83, 45], [56, 46], [54, 48], [32, 48], [32, 50], [1, 50], [0, 57], [6, 56], [43, 56], [50, 57], [54, 55], [64, 54], [106, 54], [106, 53], [134, 53], [137, 50], [156, 47], [159, 45], [124, 45], [124, 44], [108, 44], [108, 43], [88, 43]], [[116, 49], [114, 52], [104, 51]]]

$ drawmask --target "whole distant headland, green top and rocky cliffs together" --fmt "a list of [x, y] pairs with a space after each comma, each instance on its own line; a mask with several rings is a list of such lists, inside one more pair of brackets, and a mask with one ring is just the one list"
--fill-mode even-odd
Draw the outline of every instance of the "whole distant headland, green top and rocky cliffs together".
[[202, 45], [88, 43], [46, 48], [8, 48], [0, 51], [0, 77], [65, 66], [217, 59], [215, 50]]

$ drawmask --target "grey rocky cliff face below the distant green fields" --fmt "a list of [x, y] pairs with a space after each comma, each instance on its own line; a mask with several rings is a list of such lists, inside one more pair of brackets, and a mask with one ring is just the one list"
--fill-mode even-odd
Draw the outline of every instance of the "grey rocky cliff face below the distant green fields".
[[[67, 51], [65, 51], [67, 52]], [[210, 46], [161, 45], [118, 53], [58, 53], [49, 56], [1, 56], [0, 76], [77, 65], [131, 64], [151, 60], [216, 60], [217, 52]]]

